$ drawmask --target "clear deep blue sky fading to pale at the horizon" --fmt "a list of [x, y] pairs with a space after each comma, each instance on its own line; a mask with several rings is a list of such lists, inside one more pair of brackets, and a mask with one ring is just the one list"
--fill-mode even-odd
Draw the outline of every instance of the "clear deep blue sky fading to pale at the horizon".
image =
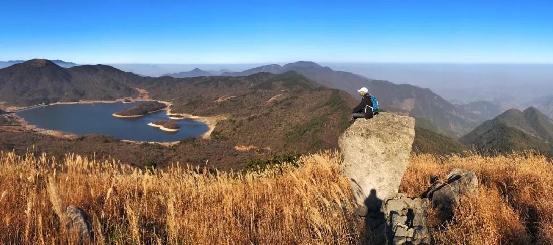
[[3, 61], [553, 63], [551, 1], [0, 0], [0, 13]]

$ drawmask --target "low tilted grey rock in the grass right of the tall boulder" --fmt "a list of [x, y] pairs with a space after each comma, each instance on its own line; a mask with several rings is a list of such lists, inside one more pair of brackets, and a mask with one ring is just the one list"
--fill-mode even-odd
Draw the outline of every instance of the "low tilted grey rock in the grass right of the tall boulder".
[[435, 207], [441, 207], [444, 219], [450, 219], [453, 215], [453, 206], [468, 194], [478, 191], [478, 178], [474, 171], [453, 168], [447, 173], [447, 182], [433, 183], [426, 191], [424, 197], [432, 200]]

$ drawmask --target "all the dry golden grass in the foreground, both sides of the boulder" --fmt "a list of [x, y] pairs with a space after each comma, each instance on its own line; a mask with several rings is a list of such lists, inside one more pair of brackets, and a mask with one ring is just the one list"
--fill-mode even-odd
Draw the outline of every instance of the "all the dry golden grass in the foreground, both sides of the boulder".
[[[64, 161], [0, 152], [0, 243], [73, 244], [67, 205], [84, 209], [96, 244], [370, 243], [353, 214], [340, 156], [322, 152], [263, 173], [153, 173], [70, 155]], [[478, 194], [463, 199], [436, 244], [551, 244], [553, 166], [529, 153], [506, 157], [413, 156], [401, 190], [420, 196], [431, 175], [477, 172]], [[342, 211], [341, 203], [346, 204]]]

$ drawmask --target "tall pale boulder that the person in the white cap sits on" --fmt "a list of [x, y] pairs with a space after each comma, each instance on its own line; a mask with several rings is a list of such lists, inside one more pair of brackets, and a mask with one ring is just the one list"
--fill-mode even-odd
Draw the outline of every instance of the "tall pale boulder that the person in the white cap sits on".
[[358, 119], [343, 132], [342, 172], [359, 205], [380, 211], [382, 200], [398, 194], [414, 139], [415, 119], [390, 113]]

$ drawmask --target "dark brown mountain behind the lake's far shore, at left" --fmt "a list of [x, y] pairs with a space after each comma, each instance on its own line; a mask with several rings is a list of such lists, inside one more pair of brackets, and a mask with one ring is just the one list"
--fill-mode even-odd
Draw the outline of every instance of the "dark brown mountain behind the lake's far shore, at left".
[[104, 65], [63, 68], [34, 59], [0, 69], [0, 98], [12, 105], [117, 99], [138, 95], [129, 80], [141, 79]]

